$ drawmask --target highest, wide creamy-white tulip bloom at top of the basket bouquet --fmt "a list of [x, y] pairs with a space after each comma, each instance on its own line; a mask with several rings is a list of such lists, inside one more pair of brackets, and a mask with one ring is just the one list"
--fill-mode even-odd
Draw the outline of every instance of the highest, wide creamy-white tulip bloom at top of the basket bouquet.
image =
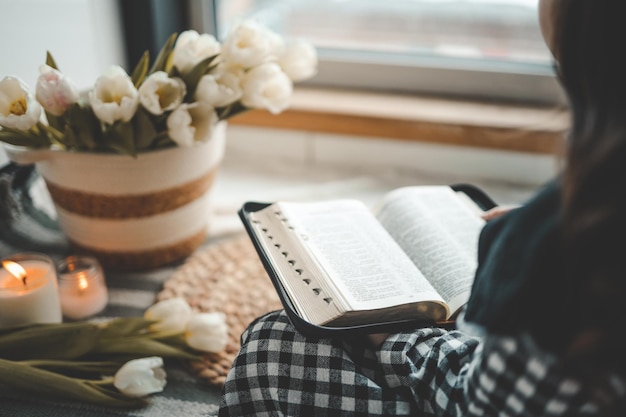
[[245, 68], [275, 61], [283, 53], [283, 39], [254, 20], [245, 20], [228, 34], [222, 45], [222, 59]]

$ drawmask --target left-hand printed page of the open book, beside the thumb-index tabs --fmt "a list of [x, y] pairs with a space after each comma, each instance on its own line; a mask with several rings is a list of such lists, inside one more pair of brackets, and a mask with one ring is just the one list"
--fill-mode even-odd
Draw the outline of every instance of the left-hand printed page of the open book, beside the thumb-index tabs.
[[281, 202], [278, 206], [349, 309], [441, 301], [362, 202]]

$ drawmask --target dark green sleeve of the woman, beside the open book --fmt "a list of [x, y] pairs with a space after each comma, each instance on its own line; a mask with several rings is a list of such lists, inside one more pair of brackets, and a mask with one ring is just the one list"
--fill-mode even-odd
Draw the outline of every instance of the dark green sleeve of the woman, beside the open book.
[[543, 332], [562, 306], [561, 193], [553, 181], [484, 227], [465, 319], [499, 334]]

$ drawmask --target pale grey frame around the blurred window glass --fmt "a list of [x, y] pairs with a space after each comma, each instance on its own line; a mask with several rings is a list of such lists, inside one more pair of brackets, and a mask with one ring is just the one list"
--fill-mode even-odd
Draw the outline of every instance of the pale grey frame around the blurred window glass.
[[[217, 36], [217, 1], [188, 0], [189, 21], [198, 32]], [[380, 62], [376, 54], [346, 53], [318, 48], [318, 74], [303, 85], [432, 95], [461, 99], [566, 104], [553, 68], [545, 65], [498, 63], [486, 70], [471, 60], [389, 54]], [[357, 70], [358, 66], [358, 70]]]

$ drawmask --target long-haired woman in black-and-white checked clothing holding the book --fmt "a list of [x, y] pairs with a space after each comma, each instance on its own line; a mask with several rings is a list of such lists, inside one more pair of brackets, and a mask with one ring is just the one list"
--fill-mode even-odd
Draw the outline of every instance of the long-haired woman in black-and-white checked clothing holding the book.
[[566, 165], [488, 221], [460, 330], [313, 340], [268, 314], [242, 336], [221, 416], [626, 415], [626, 2], [539, 11], [571, 105]]

